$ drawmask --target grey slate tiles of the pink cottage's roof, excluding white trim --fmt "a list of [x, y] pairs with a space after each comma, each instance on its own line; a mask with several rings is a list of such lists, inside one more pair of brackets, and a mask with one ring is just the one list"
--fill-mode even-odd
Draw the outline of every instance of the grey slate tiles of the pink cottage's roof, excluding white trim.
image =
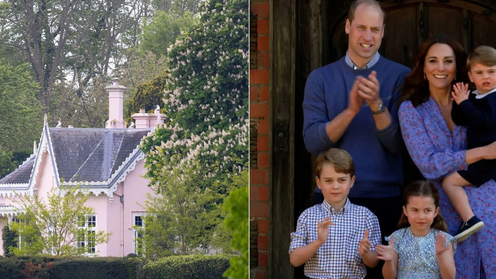
[[[49, 127], [59, 176], [65, 182], [108, 180], [152, 129], [94, 129]], [[0, 179], [0, 184], [29, 183], [35, 162], [24, 164]]]

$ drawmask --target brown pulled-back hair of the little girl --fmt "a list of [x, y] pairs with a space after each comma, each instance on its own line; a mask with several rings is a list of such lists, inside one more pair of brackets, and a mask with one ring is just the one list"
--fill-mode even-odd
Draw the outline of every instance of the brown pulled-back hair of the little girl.
[[[431, 182], [427, 181], [415, 181], [410, 183], [406, 188], [403, 195], [403, 206], [406, 207], [408, 204], [408, 199], [410, 197], [431, 197], [434, 199], [434, 206], [436, 208], [439, 207], [439, 192], [434, 187]], [[405, 212], [402, 210], [401, 217], [398, 222], [399, 228], [406, 228], [410, 226], [410, 222], [408, 222], [408, 217], [405, 215]], [[448, 226], [444, 221], [444, 218], [441, 215], [441, 211], [437, 213], [434, 217], [434, 221], [431, 224], [431, 228], [435, 228], [438, 230], [442, 230], [444, 232], [448, 232]]]

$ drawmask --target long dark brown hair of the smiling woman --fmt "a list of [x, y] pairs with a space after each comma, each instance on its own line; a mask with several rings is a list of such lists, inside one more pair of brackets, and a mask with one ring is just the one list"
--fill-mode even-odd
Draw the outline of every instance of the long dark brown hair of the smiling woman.
[[467, 54], [460, 43], [446, 35], [432, 37], [420, 45], [417, 50], [415, 66], [412, 68], [412, 71], [405, 76], [405, 81], [400, 89], [401, 93], [398, 105], [401, 105], [404, 101], [411, 101], [412, 105], [417, 107], [429, 100], [431, 94], [429, 92], [429, 80], [424, 78], [424, 65], [427, 52], [434, 44], [446, 44], [451, 47], [455, 54], [456, 78], [451, 84], [453, 85], [456, 82], [469, 82], [467, 73]]

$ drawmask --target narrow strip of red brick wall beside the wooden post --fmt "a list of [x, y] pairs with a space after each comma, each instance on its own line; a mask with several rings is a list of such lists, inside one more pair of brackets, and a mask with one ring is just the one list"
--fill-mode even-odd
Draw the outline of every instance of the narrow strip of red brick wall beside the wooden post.
[[[249, 115], [250, 123], [256, 123], [256, 167], [250, 166], [249, 200], [250, 222], [256, 224], [256, 264], [250, 266], [251, 279], [266, 279], [268, 267], [268, 222], [269, 222], [269, 127], [270, 127], [270, 63], [269, 63], [269, 17], [267, 0], [250, 0], [250, 12], [256, 16], [256, 67], [249, 70]], [[253, 150], [254, 151], [254, 150]], [[251, 162], [250, 157], [250, 162]], [[254, 161], [254, 160], [253, 160]], [[255, 235], [256, 233], [256, 235]]]

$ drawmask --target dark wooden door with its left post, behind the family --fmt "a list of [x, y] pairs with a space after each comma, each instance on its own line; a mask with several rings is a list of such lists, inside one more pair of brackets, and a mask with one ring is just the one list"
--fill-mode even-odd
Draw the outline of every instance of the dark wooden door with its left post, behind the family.
[[[311, 70], [345, 55], [344, 23], [352, 1], [272, 2], [272, 139], [276, 143], [277, 125], [289, 121], [285, 128], [289, 146], [286, 152], [273, 151], [272, 157], [270, 278], [305, 278], [302, 268], [294, 270], [289, 265], [287, 254], [289, 233], [310, 206], [314, 187], [315, 156], [306, 150], [302, 136], [304, 88]], [[496, 1], [384, 0], [381, 4], [387, 15], [379, 53], [405, 66], [413, 66], [417, 48], [425, 39], [440, 33], [457, 39], [467, 52], [479, 45], [496, 47]], [[404, 168], [406, 182], [421, 178], [409, 158]]]

